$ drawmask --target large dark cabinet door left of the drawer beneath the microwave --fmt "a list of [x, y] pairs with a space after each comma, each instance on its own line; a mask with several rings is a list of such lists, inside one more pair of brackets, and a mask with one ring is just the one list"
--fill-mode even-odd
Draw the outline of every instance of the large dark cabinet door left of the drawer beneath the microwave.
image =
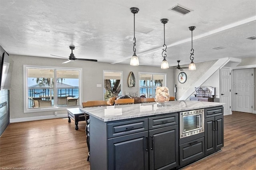
[[178, 125], [149, 131], [150, 169], [178, 166]]

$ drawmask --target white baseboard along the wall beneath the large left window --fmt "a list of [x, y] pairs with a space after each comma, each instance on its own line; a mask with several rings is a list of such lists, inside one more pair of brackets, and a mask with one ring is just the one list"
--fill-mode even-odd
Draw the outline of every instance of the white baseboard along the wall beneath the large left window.
[[10, 119], [10, 123], [39, 121], [44, 119], [56, 119], [56, 118], [64, 118], [64, 117], [68, 117], [68, 114], [15, 118], [15, 119]]

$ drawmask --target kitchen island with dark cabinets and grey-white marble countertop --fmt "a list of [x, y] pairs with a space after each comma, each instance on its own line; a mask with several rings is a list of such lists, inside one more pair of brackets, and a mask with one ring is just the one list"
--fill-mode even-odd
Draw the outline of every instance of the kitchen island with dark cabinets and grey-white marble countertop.
[[[168, 101], [164, 107], [153, 102], [80, 108], [90, 115], [90, 167], [172, 169], [217, 152], [224, 143], [223, 104]], [[197, 127], [203, 128], [180, 137], [180, 113], [189, 115], [198, 109], [201, 116], [194, 122], [199, 117], [203, 121]]]

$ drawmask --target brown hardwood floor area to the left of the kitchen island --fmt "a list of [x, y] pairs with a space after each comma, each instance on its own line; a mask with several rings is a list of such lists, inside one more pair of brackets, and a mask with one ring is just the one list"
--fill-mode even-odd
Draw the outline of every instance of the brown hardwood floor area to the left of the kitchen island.
[[0, 169], [89, 170], [85, 125], [75, 130], [68, 119], [10, 123], [0, 137]]

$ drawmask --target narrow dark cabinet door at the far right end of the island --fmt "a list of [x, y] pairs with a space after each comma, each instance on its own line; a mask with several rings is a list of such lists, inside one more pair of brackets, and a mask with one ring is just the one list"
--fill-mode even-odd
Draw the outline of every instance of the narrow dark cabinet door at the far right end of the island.
[[224, 122], [223, 122], [223, 116], [216, 116], [215, 117], [215, 150], [218, 150], [220, 149], [221, 147], [224, 146], [224, 139], [223, 139], [223, 136], [224, 136], [224, 128], [223, 128], [223, 125], [224, 125]]

